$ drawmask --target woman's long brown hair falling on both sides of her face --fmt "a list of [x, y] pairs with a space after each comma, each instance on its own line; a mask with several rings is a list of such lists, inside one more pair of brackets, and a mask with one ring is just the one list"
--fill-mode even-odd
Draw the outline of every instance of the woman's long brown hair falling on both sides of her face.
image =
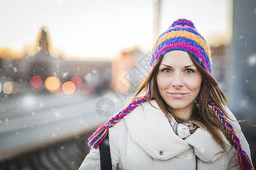
[[[200, 92], [196, 97], [193, 105], [191, 121], [183, 120], [172, 114], [172, 108], [166, 104], [166, 102], [160, 96], [156, 78], [158, 75], [159, 65], [163, 57], [159, 58], [159, 61], [151, 69], [150, 73], [147, 75], [146, 79], [141, 84], [138, 91], [135, 93], [131, 100], [138, 99], [141, 94], [147, 92], [149, 84], [151, 84], [152, 87], [150, 88], [152, 91], [152, 99], [156, 100], [159, 108], [163, 111], [168, 119], [170, 118], [168, 114], [169, 112], [180, 123], [191, 122], [200, 128], [206, 129], [222, 148], [226, 148], [227, 143], [225, 142], [224, 138], [222, 138], [221, 133], [225, 135], [230, 143], [232, 143], [232, 141], [228, 135], [228, 132], [220, 124], [220, 121], [215, 116], [208, 104], [209, 100], [213, 101], [213, 103], [215, 103], [217, 107], [221, 109], [222, 113], [224, 113], [224, 115], [229, 118], [224, 109], [224, 105], [228, 102], [226, 95], [221, 90], [218, 82], [204, 69], [201, 63], [192, 54], [189, 54], [189, 57], [192, 59], [192, 62], [195, 64], [197, 69], [199, 69], [202, 75]], [[148, 99], [148, 102], [150, 103], [150, 99]]]

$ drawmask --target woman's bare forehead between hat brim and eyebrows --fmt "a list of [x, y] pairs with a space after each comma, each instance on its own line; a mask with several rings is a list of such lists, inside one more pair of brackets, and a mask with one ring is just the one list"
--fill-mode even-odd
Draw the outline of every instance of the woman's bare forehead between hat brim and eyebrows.
[[162, 63], [168, 65], [193, 65], [189, 54], [181, 50], [174, 50], [164, 54]]

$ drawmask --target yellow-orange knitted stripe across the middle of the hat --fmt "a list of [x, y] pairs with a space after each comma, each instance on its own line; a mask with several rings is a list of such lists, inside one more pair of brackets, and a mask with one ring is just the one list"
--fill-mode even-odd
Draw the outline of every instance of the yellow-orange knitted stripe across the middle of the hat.
[[188, 31], [171, 31], [171, 32], [168, 32], [168, 33], [162, 35], [156, 41], [156, 43], [152, 49], [152, 53], [154, 53], [156, 46], [160, 45], [163, 41], [172, 39], [174, 37], [185, 37], [185, 38], [196, 41], [197, 44], [199, 44], [200, 46], [202, 46], [204, 48], [205, 52], [207, 52], [209, 59], [210, 59], [210, 49], [209, 49], [209, 46], [207, 45], [207, 43], [200, 36], [195, 35], [194, 33], [188, 32]]

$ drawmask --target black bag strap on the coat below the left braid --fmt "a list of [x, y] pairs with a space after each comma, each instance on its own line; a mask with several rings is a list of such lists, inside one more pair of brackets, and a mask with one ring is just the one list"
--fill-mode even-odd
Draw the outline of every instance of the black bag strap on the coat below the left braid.
[[102, 170], [112, 170], [111, 154], [109, 147], [109, 134], [103, 139], [100, 144], [100, 160]]

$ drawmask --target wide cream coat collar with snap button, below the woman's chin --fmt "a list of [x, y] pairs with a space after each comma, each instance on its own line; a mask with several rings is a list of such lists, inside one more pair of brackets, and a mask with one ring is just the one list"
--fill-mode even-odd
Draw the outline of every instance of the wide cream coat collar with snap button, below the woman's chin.
[[171, 159], [192, 147], [195, 154], [204, 162], [214, 162], [225, 154], [207, 130], [199, 128], [185, 140], [181, 139], [174, 133], [156, 101], [152, 100], [151, 104], [155, 108], [148, 102], [143, 103], [125, 117], [125, 122], [131, 138], [152, 158]]

